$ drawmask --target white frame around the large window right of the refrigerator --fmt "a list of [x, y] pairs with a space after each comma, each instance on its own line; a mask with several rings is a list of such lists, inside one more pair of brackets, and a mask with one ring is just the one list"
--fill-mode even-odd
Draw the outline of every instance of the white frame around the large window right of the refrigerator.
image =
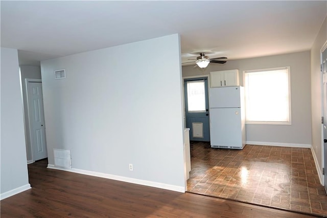
[[[279, 68], [269, 68], [269, 69], [259, 69], [259, 70], [247, 70], [243, 71], [243, 81], [244, 81], [244, 88], [246, 90], [246, 82], [245, 77], [247, 73], [254, 73], [254, 72], [264, 72], [264, 71], [276, 71], [276, 70], [285, 70], [287, 69], [287, 76], [288, 76], [288, 114], [289, 114], [289, 120], [288, 121], [248, 121], [246, 118], [245, 123], [246, 124], [277, 124], [277, 125], [291, 125], [292, 121], [292, 114], [291, 114], [291, 68], [290, 67], [279, 67]], [[277, 87], [277, 86], [276, 86]], [[246, 93], [246, 91], [245, 91]], [[245, 96], [245, 102], [246, 102], [247, 96]], [[246, 108], [245, 108], [246, 110]]]

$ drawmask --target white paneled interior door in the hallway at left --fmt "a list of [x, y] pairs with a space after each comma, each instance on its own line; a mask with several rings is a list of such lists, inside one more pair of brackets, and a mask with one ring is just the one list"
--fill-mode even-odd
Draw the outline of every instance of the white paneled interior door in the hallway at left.
[[33, 160], [37, 161], [48, 157], [46, 152], [41, 82], [28, 82], [28, 108]]

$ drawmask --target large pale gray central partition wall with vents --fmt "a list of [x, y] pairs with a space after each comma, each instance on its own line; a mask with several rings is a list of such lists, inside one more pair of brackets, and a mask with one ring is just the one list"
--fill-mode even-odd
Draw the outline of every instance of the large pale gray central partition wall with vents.
[[185, 188], [180, 66], [177, 34], [41, 61], [49, 164]]

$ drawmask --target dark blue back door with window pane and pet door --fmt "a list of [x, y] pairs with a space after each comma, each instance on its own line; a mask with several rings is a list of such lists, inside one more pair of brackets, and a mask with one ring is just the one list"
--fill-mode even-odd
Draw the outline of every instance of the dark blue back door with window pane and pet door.
[[185, 121], [190, 140], [210, 141], [207, 77], [184, 80]]

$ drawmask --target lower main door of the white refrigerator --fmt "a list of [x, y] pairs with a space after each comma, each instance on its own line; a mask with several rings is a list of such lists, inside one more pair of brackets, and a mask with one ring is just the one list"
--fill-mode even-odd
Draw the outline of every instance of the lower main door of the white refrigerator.
[[210, 108], [212, 147], [242, 149], [241, 108]]

